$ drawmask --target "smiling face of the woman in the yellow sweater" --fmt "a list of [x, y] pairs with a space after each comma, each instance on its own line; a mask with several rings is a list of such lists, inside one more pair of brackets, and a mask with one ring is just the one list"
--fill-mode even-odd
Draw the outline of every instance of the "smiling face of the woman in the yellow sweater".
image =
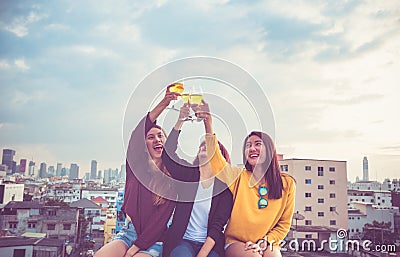
[[253, 167], [256, 164], [265, 162], [267, 151], [262, 139], [256, 135], [252, 135], [246, 142], [245, 145], [245, 156], [247, 162]]

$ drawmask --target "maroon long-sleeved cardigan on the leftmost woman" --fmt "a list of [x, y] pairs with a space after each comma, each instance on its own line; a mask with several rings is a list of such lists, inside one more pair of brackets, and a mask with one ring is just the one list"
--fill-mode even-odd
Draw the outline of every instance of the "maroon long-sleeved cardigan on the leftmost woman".
[[146, 160], [150, 157], [146, 149], [145, 134], [154, 125], [148, 114], [139, 122], [132, 132], [126, 159], [126, 184], [122, 211], [132, 220], [137, 233], [134, 244], [140, 249], [147, 249], [155, 242], [163, 241], [167, 222], [175, 207], [175, 202], [171, 200], [155, 206], [153, 193], [144, 186], [148, 185], [151, 179], [147, 172]]

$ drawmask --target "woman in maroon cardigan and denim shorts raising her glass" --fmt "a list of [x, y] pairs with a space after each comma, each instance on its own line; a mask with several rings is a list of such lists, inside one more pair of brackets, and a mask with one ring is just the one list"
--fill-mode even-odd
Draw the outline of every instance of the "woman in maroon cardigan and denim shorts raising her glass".
[[162, 163], [165, 133], [157, 117], [179, 94], [165, 93], [161, 102], [132, 132], [126, 158], [126, 184], [122, 210], [126, 224], [95, 257], [158, 257], [167, 222], [175, 207], [174, 190]]

